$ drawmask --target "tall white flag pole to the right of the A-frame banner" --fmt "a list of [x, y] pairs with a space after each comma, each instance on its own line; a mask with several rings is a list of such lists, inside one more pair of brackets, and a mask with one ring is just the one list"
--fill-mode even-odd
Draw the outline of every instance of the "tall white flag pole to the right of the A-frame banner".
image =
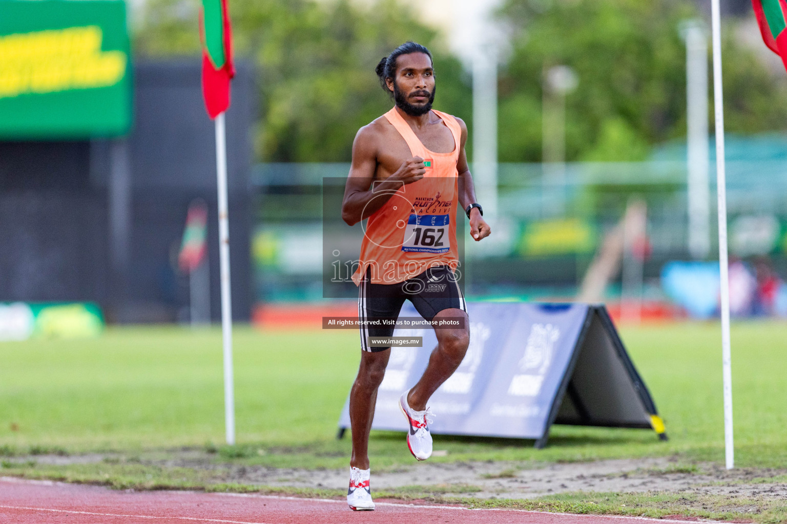
[[716, 120], [716, 190], [719, 196], [719, 273], [722, 298], [722, 374], [724, 378], [724, 450], [727, 469], [735, 463], [733, 448], [733, 379], [730, 362], [730, 277], [727, 261], [727, 195], [724, 166], [724, 105], [722, 96], [722, 30], [719, 0], [711, 0], [713, 29], [713, 100]]

